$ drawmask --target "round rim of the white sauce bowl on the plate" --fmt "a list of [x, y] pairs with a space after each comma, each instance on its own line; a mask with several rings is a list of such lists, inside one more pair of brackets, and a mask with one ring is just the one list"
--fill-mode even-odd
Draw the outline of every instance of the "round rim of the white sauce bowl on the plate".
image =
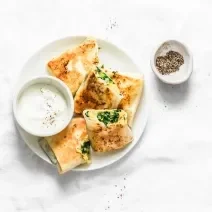
[[[67, 106], [68, 106], [68, 116], [67, 116], [67, 119], [64, 121], [63, 125], [59, 128], [55, 128], [56, 130], [52, 130], [51, 132], [48, 132], [48, 133], [44, 133], [44, 132], [38, 133], [36, 131], [33, 131], [31, 128], [26, 127], [23, 124], [23, 122], [20, 121], [20, 119], [18, 117], [18, 112], [17, 112], [17, 102], [18, 102], [18, 98], [21, 95], [21, 93], [23, 93], [30, 85], [39, 84], [39, 81], [41, 81], [43, 79], [50, 79], [52, 81], [55, 81], [62, 87], [60, 92], [63, 94], [63, 96], [67, 102]], [[33, 83], [33, 81], [35, 83]], [[52, 86], [55, 86], [55, 85], [52, 84]], [[55, 86], [55, 87], [57, 88], [57, 86]], [[64, 93], [66, 93], [66, 95], [64, 95]], [[74, 115], [73, 95], [72, 95], [70, 89], [68, 88], [68, 86], [62, 80], [59, 80], [56, 77], [53, 77], [53, 76], [32, 77], [29, 80], [27, 80], [26, 82], [24, 82], [21, 86], [19, 86], [18, 90], [15, 92], [15, 94], [13, 96], [13, 114], [14, 114], [14, 117], [15, 117], [18, 125], [20, 125], [21, 128], [24, 129], [26, 132], [28, 132], [32, 135], [38, 136], [38, 137], [52, 136], [52, 135], [55, 135], [55, 134], [61, 132], [63, 129], [65, 129], [67, 127], [67, 125], [69, 124], [69, 122], [71, 121], [71, 119]]]

